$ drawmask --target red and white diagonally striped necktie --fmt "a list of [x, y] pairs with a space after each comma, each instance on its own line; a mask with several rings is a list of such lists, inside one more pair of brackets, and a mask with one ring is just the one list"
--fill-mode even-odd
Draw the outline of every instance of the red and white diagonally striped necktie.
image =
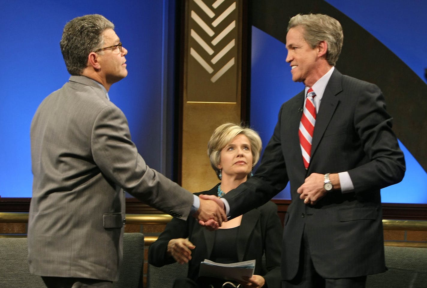
[[316, 96], [313, 89], [308, 89], [307, 100], [299, 123], [299, 143], [301, 145], [302, 160], [305, 169], [308, 168], [311, 158], [311, 141], [313, 139], [314, 124], [316, 123], [316, 107], [313, 98]]

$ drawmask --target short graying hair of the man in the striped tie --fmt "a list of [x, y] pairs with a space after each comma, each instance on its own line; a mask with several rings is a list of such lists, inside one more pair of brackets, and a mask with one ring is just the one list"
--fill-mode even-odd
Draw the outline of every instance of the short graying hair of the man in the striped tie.
[[328, 43], [326, 60], [330, 65], [335, 66], [344, 40], [339, 21], [324, 14], [298, 14], [290, 19], [287, 31], [297, 26], [304, 29], [304, 39], [312, 49], [321, 41]]

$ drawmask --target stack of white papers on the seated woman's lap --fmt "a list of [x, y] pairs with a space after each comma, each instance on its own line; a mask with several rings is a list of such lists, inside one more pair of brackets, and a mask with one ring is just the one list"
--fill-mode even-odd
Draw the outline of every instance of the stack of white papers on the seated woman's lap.
[[205, 259], [200, 262], [199, 276], [214, 277], [225, 280], [245, 281], [254, 275], [255, 259], [237, 263], [222, 264]]

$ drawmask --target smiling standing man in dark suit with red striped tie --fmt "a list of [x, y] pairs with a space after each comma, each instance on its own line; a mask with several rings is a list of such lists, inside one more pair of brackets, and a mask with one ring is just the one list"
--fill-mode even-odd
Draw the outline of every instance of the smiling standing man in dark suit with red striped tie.
[[287, 31], [286, 61], [305, 89], [282, 105], [257, 173], [225, 195], [226, 211], [241, 215], [289, 181], [282, 287], [365, 287], [386, 271], [380, 189], [401, 181], [404, 155], [381, 90], [334, 67], [340, 23], [296, 15]]

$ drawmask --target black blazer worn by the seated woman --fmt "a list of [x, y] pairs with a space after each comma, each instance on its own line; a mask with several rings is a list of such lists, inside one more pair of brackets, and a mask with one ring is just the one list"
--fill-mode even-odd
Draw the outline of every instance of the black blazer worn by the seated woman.
[[[216, 195], [216, 185], [209, 191], [199, 194]], [[255, 275], [261, 275], [266, 280], [266, 287], [280, 287], [280, 255], [282, 224], [277, 215], [277, 206], [273, 202], [252, 209], [245, 213], [237, 235], [237, 261], [256, 260]], [[195, 218], [182, 221], [173, 218], [158, 239], [150, 245], [148, 262], [157, 267], [174, 263], [171, 256], [167, 256], [167, 244], [170, 239], [187, 238], [196, 246], [192, 251], [192, 259], [188, 266], [188, 277], [196, 280], [199, 276], [199, 265], [209, 259], [214, 245], [213, 231], [199, 225]], [[239, 244], [240, 243], [240, 244]], [[262, 257], [265, 253], [266, 267], [262, 267]]]

